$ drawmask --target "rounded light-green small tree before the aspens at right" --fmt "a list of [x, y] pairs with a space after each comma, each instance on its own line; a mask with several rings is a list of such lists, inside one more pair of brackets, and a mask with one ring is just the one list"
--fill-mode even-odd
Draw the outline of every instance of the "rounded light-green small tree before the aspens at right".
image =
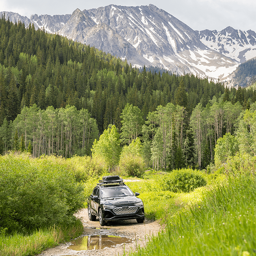
[[227, 159], [234, 156], [239, 150], [239, 145], [237, 138], [230, 133], [225, 134], [223, 137], [217, 140], [217, 145], [215, 146], [215, 166], [218, 169]]

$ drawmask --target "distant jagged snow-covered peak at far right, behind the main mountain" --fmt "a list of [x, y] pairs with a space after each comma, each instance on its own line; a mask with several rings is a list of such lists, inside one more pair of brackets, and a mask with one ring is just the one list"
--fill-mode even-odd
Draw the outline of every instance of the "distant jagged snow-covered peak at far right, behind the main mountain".
[[221, 32], [203, 30], [198, 32], [204, 45], [243, 63], [256, 56], [256, 33], [227, 27]]

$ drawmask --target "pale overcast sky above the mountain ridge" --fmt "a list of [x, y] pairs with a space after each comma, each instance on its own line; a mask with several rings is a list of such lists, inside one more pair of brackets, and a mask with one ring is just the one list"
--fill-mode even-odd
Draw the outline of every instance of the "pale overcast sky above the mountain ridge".
[[256, 32], [256, 0], [0, 0], [0, 11], [12, 11], [30, 18], [32, 14], [71, 14], [76, 8], [98, 8], [110, 4], [145, 6], [154, 4], [193, 30], [221, 31], [227, 26]]

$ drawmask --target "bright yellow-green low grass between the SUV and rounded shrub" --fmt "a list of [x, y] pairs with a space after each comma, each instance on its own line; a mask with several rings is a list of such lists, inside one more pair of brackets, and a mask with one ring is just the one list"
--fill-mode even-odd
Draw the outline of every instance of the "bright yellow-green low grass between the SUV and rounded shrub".
[[224, 175], [204, 174], [209, 184], [207, 187], [197, 188], [191, 193], [174, 193], [164, 190], [163, 179], [166, 175], [169, 175], [169, 172], [148, 171], [144, 180], [126, 182], [133, 192], [140, 193], [139, 198], [143, 200], [146, 218], [158, 219], [163, 223], [167, 217], [200, 202], [206, 189], [225, 179]]

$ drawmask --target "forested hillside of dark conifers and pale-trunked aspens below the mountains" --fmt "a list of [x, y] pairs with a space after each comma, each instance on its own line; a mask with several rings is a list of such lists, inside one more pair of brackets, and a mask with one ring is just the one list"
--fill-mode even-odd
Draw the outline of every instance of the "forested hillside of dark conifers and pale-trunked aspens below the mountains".
[[114, 124], [148, 165], [205, 167], [256, 91], [193, 74], [143, 71], [58, 34], [0, 19], [0, 153], [90, 155]]

